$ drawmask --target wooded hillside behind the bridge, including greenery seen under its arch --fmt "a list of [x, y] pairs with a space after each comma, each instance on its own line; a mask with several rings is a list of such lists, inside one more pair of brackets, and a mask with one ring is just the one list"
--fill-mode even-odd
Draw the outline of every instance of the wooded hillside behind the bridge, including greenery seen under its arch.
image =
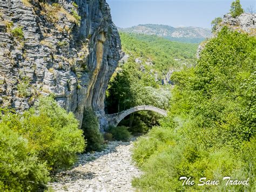
[[[117, 113], [125, 109], [152, 105], [169, 107], [173, 71], [195, 64], [198, 44], [171, 42], [157, 36], [120, 33], [122, 49], [126, 54], [119, 63], [107, 90], [107, 111]], [[158, 124], [159, 115], [137, 112], [120, 125], [130, 131], [145, 133]]]

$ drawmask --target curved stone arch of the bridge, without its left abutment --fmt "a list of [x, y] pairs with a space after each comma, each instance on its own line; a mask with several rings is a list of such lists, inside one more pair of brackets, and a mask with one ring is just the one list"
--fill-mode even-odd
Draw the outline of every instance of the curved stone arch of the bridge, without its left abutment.
[[167, 112], [163, 109], [153, 107], [153, 106], [143, 105], [143, 106], [133, 107], [133, 108], [127, 109], [126, 111], [118, 113], [118, 115], [116, 116], [116, 119], [115, 119], [115, 121], [113, 121], [112, 125], [116, 127], [119, 124], [119, 122], [125, 118], [125, 116], [127, 116], [131, 113], [137, 112], [137, 111], [153, 111], [153, 112], [157, 112], [163, 116], [167, 116]]

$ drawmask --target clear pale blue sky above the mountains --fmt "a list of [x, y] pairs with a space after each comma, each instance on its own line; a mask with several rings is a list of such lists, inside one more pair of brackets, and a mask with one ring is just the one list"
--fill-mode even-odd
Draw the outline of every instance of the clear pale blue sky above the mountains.
[[[114, 24], [127, 28], [138, 24], [199, 26], [211, 28], [215, 17], [223, 17], [233, 0], [106, 0]], [[256, 0], [240, 0], [246, 10]]]

